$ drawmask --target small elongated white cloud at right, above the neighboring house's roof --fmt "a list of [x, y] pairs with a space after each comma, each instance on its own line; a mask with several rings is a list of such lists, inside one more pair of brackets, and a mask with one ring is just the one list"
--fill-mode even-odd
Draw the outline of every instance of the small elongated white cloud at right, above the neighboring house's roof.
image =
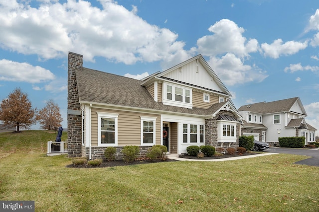
[[261, 49], [264, 51], [265, 57], [277, 59], [282, 55], [287, 56], [296, 54], [300, 50], [306, 49], [307, 46], [308, 41], [305, 41], [304, 43], [297, 41], [288, 41], [283, 43], [282, 39], [277, 39], [272, 44], [261, 44]]

